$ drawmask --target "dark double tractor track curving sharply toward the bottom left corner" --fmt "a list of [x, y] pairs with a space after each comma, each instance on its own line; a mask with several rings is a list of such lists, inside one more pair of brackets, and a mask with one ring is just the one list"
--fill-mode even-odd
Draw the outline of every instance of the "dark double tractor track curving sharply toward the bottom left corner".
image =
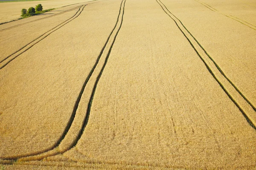
[[[114, 42], [116, 40], [117, 34], [119, 33], [119, 30], [120, 30], [121, 26], [122, 26], [123, 16], [124, 16], [124, 9], [125, 9], [125, 2], [126, 2], [126, 0], [122, 0], [121, 5], [120, 5], [120, 9], [119, 9], [119, 14], [118, 14], [118, 17], [117, 17], [117, 20], [116, 20], [116, 24], [115, 24], [113, 30], [111, 31], [110, 35], [108, 36], [108, 39], [105, 42], [105, 45], [103, 46], [102, 50], [100, 51], [100, 54], [97, 57], [96, 62], [93, 65], [93, 68], [91, 69], [90, 73], [88, 74], [87, 78], [85, 79], [85, 82], [84, 82], [84, 84], [83, 84], [83, 86], [81, 88], [79, 96], [76, 99], [76, 102], [75, 102], [75, 105], [74, 105], [74, 108], [73, 108], [73, 112], [72, 112], [72, 114], [70, 116], [69, 122], [67, 123], [67, 126], [65, 127], [65, 130], [64, 130], [63, 134], [61, 135], [61, 137], [58, 139], [58, 141], [54, 144], [54, 146], [50, 147], [47, 150], [41, 151], [40, 153], [38, 152], [38, 153], [32, 153], [32, 154], [27, 154], [27, 155], [23, 155], [23, 156], [15, 156], [15, 157], [13, 156], [13, 157], [8, 157], [8, 158], [2, 158], [3, 161], [6, 161], [6, 163], [3, 162], [3, 164], [12, 164], [12, 162], [16, 162], [16, 161], [18, 161], [18, 159], [21, 159], [21, 158], [25, 158], [25, 160], [21, 159], [21, 161], [24, 161], [24, 162], [26, 162], [26, 161], [42, 160], [42, 159], [44, 159], [46, 157], [49, 157], [49, 156], [55, 156], [57, 154], [64, 153], [64, 152], [70, 150], [72, 147], [76, 146], [77, 142], [81, 138], [81, 135], [82, 135], [82, 133], [84, 131], [84, 128], [87, 125], [87, 122], [88, 122], [88, 119], [89, 119], [89, 114], [90, 114], [90, 107], [91, 107], [91, 104], [92, 104], [93, 96], [94, 96], [95, 91], [96, 91], [96, 86], [97, 86], [97, 84], [99, 82], [99, 79], [100, 79], [100, 77], [102, 75], [102, 72], [104, 71], [104, 68], [105, 68], [105, 66], [106, 66], [106, 64], [108, 62], [108, 57], [110, 56], [113, 44], [114, 44]], [[123, 8], [122, 8], [122, 6], [123, 6]], [[113, 42], [111, 43], [111, 42], [109, 42], [109, 40], [110, 40], [113, 32], [115, 31], [115, 29], [116, 29], [116, 27], [117, 27], [117, 25], [119, 23], [119, 17], [120, 17], [121, 11], [122, 11], [122, 20], [121, 20], [121, 23], [120, 23], [120, 26], [119, 26], [118, 30], [116, 31], [116, 34], [115, 34], [114, 38], [113, 38]], [[76, 139], [74, 139], [74, 141], [72, 142], [70, 147], [67, 148], [66, 150], [64, 150], [64, 151], [57, 151], [56, 150], [55, 152], [47, 154], [47, 152], [50, 152], [50, 151], [56, 149], [59, 146], [59, 144], [61, 144], [61, 142], [65, 138], [65, 136], [67, 135], [67, 133], [68, 133], [68, 131], [69, 131], [73, 121], [74, 121], [74, 118], [76, 116], [76, 111], [78, 109], [79, 102], [81, 100], [82, 94], [84, 93], [84, 89], [85, 89], [85, 87], [87, 85], [87, 82], [89, 81], [90, 77], [92, 76], [96, 66], [99, 63], [100, 58], [102, 57], [103, 52], [106, 49], [107, 44], [109, 44], [109, 43], [111, 43], [110, 49], [108, 50], [108, 54], [107, 54], [107, 56], [105, 58], [105, 62], [104, 62], [103, 66], [102, 66], [102, 68], [101, 68], [101, 70], [100, 70], [100, 72], [99, 72], [99, 74], [98, 74], [98, 76], [96, 78], [96, 82], [94, 82], [93, 91], [92, 91], [92, 94], [90, 96], [90, 102], [88, 103], [88, 106], [87, 106], [87, 113], [86, 113], [86, 115], [84, 117], [84, 120], [82, 122], [82, 128], [79, 130], [78, 135], [76, 136]], [[88, 108], [89, 108], [89, 111], [88, 111]], [[46, 153], [44, 156], [38, 156], [38, 155], [44, 154], [44, 153]], [[26, 159], [26, 157], [27, 157], [27, 159]]]

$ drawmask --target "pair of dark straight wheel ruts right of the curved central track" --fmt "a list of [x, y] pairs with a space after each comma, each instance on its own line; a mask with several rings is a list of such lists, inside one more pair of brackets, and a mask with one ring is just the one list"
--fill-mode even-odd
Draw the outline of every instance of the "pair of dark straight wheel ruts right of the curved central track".
[[[241, 91], [239, 91], [239, 89], [233, 84], [233, 82], [230, 81], [230, 79], [227, 78], [227, 76], [224, 74], [224, 72], [221, 70], [221, 68], [217, 65], [217, 63], [212, 59], [212, 57], [209, 56], [209, 54], [207, 53], [207, 51], [205, 51], [205, 49], [201, 46], [201, 44], [195, 39], [194, 36], [192, 36], [192, 34], [186, 29], [186, 27], [183, 25], [183, 23], [177, 18], [175, 17], [174, 14], [172, 14], [168, 8], [166, 8], [166, 6], [160, 1], [160, 0], [156, 0], [157, 3], [161, 6], [161, 8], [163, 9], [163, 11], [165, 11], [165, 13], [167, 15], [169, 15], [170, 18], [172, 18], [172, 20], [174, 20], [175, 24], [177, 25], [177, 27], [180, 29], [180, 31], [182, 32], [182, 34], [186, 37], [186, 39], [189, 41], [190, 45], [192, 46], [192, 48], [195, 50], [195, 52], [198, 54], [198, 56], [200, 57], [200, 59], [204, 62], [204, 65], [207, 67], [207, 70], [209, 71], [209, 73], [212, 75], [212, 77], [218, 82], [218, 84], [221, 86], [221, 88], [224, 90], [224, 92], [227, 94], [227, 96], [232, 100], [232, 102], [236, 105], [237, 108], [239, 108], [239, 111], [241, 111], [241, 113], [243, 114], [243, 116], [245, 117], [245, 119], [247, 120], [247, 122], [250, 124], [250, 126], [252, 126], [255, 130], [256, 130], [256, 120], [253, 119], [255, 118], [255, 115], [248, 115], [247, 113], [244, 112], [244, 109], [241, 108], [241, 106], [238, 104], [238, 102], [236, 102], [236, 100], [233, 98], [233, 96], [227, 91], [227, 89], [224, 87], [224, 85], [222, 85], [221, 81], [216, 77], [215, 74], [220, 74], [221, 76], [223, 76], [224, 81], [229, 82], [229, 85], [231, 85], [232, 88], [234, 88], [234, 90], [239, 94], [239, 96], [241, 96], [242, 99], [245, 100], [245, 102], [247, 102], [247, 104], [249, 104], [249, 107], [252, 108], [252, 112], [253, 114], [255, 114], [255, 107], [250, 103], [250, 101], [241, 93]], [[169, 12], [169, 13], [168, 13]], [[177, 21], [176, 21], [177, 20]], [[179, 26], [179, 23], [181, 26]], [[183, 28], [182, 28], [183, 27]], [[185, 29], [187, 31], [187, 33], [185, 33], [185, 31], [183, 31], [182, 29]], [[195, 47], [195, 45], [192, 43], [192, 40], [189, 39], [188, 36], [192, 37], [192, 40], [195, 41], [195, 45], [198, 45], [199, 48], [197, 49]], [[200, 54], [199, 51], [202, 51]], [[210, 68], [209, 65], [207, 64], [206, 60], [202, 57], [202, 55], [206, 55], [215, 65], [216, 68]], [[218, 70], [218, 72], [213, 72], [213, 69]], [[221, 78], [221, 77], [219, 77]], [[222, 79], [223, 79], [222, 78]], [[233, 90], [232, 88], [228, 87], [229, 90]], [[233, 94], [234, 95], [234, 94]], [[244, 106], [244, 108], [246, 108], [247, 106]], [[247, 107], [248, 108], [248, 107]]]

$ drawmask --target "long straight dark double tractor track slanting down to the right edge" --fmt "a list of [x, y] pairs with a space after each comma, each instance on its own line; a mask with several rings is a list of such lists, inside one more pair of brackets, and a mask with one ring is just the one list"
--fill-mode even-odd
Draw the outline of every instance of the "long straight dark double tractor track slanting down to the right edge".
[[[249, 125], [252, 126], [256, 130], [256, 114], [255, 114], [256, 109], [252, 105], [252, 103], [241, 93], [241, 91], [239, 91], [239, 89], [233, 84], [233, 82], [231, 82], [230, 79], [227, 78], [227, 76], [224, 74], [224, 72], [221, 70], [221, 68], [217, 65], [217, 63], [212, 59], [212, 57], [209, 56], [207, 51], [201, 46], [201, 44], [195, 39], [195, 37], [192, 36], [192, 34], [187, 30], [187, 28], [183, 25], [183, 23], [177, 17], [175, 17], [175, 15], [172, 14], [160, 0], [156, 0], [156, 1], [161, 6], [163, 11], [167, 15], [169, 15], [169, 17], [172, 18], [172, 20], [174, 20], [177, 27], [180, 29], [182, 34], [189, 41], [190, 45], [195, 50], [195, 52], [198, 54], [198, 57], [200, 57], [200, 59], [204, 62], [204, 65], [207, 67], [207, 70], [209, 71], [209, 73], [218, 82], [218, 84], [221, 86], [223, 91], [232, 100], [232, 102], [236, 105], [236, 107], [239, 109], [239, 111], [241, 111], [241, 113], [243, 114], [243, 116], [245, 117], [245, 119], [247, 120]], [[191, 36], [190, 39], [189, 39], [189, 36]], [[192, 41], [194, 41], [194, 43]], [[197, 46], [197, 47], [195, 47], [195, 46]], [[207, 58], [210, 59], [210, 61], [212, 63], [209, 63]], [[211, 68], [209, 65], [214, 65], [215, 68], [213, 66]], [[219, 79], [222, 79], [222, 81], [228, 82], [228, 84], [226, 83], [227, 87], [224, 87], [223, 82], [221, 82]], [[227, 90], [227, 88], [228, 88], [228, 90]], [[232, 91], [233, 94], [231, 95], [229, 91]], [[235, 94], [235, 93], [238, 93], [238, 94]], [[239, 98], [240, 100], [241, 99], [244, 100], [244, 102], [241, 102], [242, 106], [239, 105], [239, 103], [234, 99], [233, 96], [240, 97]], [[248, 108], [249, 108], [250, 114], [245, 113], [245, 111], [244, 111], [244, 109], [248, 109]]]

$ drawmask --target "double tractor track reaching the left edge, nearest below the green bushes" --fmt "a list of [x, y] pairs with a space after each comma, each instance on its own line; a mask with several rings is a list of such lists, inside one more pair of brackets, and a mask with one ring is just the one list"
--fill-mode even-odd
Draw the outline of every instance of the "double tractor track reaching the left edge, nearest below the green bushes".
[[[4, 58], [3, 60], [0, 61], [0, 70], [2, 68], [4, 68], [6, 65], [8, 65], [10, 62], [12, 62], [15, 58], [19, 57], [21, 54], [23, 54], [24, 52], [26, 52], [27, 50], [29, 50], [30, 48], [32, 48], [34, 45], [36, 45], [38, 42], [40, 42], [41, 40], [44, 40], [44, 38], [48, 37], [50, 34], [52, 34], [53, 32], [57, 31], [59, 28], [61, 28], [62, 26], [66, 25], [67, 23], [69, 23], [70, 21], [76, 19], [76, 17], [78, 17], [81, 12], [83, 11], [84, 6], [79, 6], [79, 10], [76, 11], [76, 14], [79, 13], [80, 9], [82, 8], [82, 10], [80, 11], [80, 13], [76, 16], [76, 14], [74, 14], [72, 17], [70, 17], [69, 19], [65, 20], [64, 22], [60, 23], [58, 26], [55, 26], [54, 28], [50, 29], [49, 31], [45, 32], [44, 34], [42, 34], [41, 36], [37, 37], [35, 40], [29, 42], [28, 44], [24, 45], [22, 48], [20, 48], [19, 50], [15, 51], [14, 53], [10, 54], [9, 56], [7, 56], [6, 58]], [[57, 28], [58, 27], [58, 28]], [[56, 29], [55, 29], [56, 28]], [[37, 41], [38, 40], [38, 41]], [[23, 51], [22, 51], [23, 50]], [[16, 53], [20, 52], [19, 54], [15, 55]], [[11, 56], [15, 55], [14, 57], [12, 57], [12, 59], [9, 59]], [[9, 59], [9, 61], [5, 62], [4, 64], [2, 64], [4, 61], [6, 61], [6, 59]]]

